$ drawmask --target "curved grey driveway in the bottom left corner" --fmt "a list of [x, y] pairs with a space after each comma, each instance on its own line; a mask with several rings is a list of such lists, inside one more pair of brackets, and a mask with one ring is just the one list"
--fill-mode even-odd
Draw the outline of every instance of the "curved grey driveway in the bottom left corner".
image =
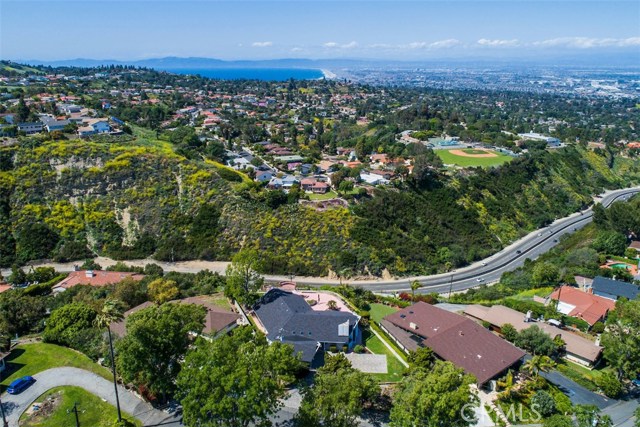
[[[9, 427], [17, 427], [20, 415], [29, 408], [41, 394], [55, 387], [77, 386], [116, 406], [113, 383], [93, 372], [78, 368], [54, 368], [33, 376], [36, 382], [18, 395], [5, 393], [2, 404], [7, 414]], [[137, 397], [122, 386], [118, 386], [120, 407], [124, 412], [140, 420], [145, 426], [179, 425], [180, 420]]]

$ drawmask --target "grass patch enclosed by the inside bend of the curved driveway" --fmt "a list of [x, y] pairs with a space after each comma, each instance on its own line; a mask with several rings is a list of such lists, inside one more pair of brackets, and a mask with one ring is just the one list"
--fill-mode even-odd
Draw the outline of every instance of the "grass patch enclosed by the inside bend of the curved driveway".
[[[37, 413], [20, 417], [21, 427], [59, 427], [75, 425], [75, 415], [69, 413], [73, 404], [77, 403], [78, 421], [81, 426], [111, 427], [118, 418], [116, 408], [104, 402], [97, 396], [80, 387], [56, 387], [36, 399], [37, 403], [49, 400], [49, 404], [41, 406], [41, 414]], [[36, 403], [34, 402], [34, 403]], [[50, 405], [50, 407], [48, 407]], [[136, 426], [141, 426], [138, 420], [129, 414], [122, 414]]]

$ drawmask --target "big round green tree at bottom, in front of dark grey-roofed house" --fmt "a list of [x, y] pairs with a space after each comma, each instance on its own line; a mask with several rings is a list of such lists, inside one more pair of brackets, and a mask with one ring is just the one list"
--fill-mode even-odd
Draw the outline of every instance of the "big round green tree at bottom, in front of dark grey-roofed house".
[[299, 366], [293, 347], [269, 345], [249, 327], [214, 341], [197, 340], [177, 379], [185, 425], [269, 425]]

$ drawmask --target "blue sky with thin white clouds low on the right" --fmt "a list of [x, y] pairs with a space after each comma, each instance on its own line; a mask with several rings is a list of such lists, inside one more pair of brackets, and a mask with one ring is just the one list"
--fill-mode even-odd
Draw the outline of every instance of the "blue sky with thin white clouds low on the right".
[[640, 2], [0, 0], [0, 57], [638, 55]]

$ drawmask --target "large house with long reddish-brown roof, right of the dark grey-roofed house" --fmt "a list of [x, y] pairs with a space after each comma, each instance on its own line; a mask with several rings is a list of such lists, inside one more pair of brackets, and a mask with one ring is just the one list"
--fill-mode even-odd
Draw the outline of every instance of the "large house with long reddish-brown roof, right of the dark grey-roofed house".
[[473, 374], [480, 386], [525, 356], [473, 320], [424, 302], [386, 316], [380, 326], [406, 352], [429, 347], [439, 358]]

